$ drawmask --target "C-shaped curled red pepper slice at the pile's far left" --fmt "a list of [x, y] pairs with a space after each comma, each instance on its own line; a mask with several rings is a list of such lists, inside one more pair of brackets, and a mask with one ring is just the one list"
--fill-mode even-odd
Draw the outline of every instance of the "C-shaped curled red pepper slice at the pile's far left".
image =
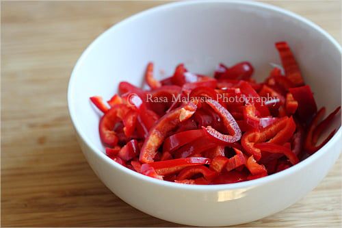
[[124, 123], [124, 133], [129, 137], [135, 128], [136, 114], [137, 112], [128, 105], [118, 104], [111, 107], [100, 119], [98, 131], [101, 140], [105, 144], [115, 147], [118, 143], [118, 136], [113, 129], [120, 121]]

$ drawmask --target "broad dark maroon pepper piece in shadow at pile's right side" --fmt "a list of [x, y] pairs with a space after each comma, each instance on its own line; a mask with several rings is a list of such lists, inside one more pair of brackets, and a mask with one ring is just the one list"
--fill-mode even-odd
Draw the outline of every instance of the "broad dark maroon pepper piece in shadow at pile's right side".
[[298, 102], [298, 116], [302, 121], [311, 121], [313, 115], [317, 112], [317, 105], [313, 92], [311, 92], [310, 86], [300, 86], [296, 88], [290, 88], [293, 99]]

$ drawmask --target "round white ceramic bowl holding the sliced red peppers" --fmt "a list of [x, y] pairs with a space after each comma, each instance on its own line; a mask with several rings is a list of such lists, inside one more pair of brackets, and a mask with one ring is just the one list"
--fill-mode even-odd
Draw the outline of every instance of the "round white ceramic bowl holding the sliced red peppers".
[[[107, 157], [98, 136], [101, 116], [89, 101], [109, 99], [123, 80], [141, 86], [148, 61], [170, 75], [184, 62], [189, 71], [212, 75], [215, 66], [249, 61], [254, 77], [280, 64], [274, 42], [289, 43], [319, 107], [341, 105], [341, 47], [310, 21], [280, 8], [247, 1], [177, 2], [114, 25], [84, 51], [70, 78], [68, 107], [77, 139], [105, 185], [133, 207], [164, 220], [196, 226], [248, 223], [289, 207], [311, 191], [341, 151], [337, 134], [311, 157], [261, 179], [217, 186], [159, 181]], [[160, 75], [159, 75], [160, 76]], [[157, 76], [158, 77], [158, 76]]]

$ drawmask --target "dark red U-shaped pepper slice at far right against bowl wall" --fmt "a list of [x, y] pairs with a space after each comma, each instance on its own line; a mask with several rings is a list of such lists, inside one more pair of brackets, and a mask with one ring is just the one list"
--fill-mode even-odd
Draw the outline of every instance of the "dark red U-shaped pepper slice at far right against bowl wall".
[[[324, 121], [321, 121], [321, 126], [319, 127], [319, 125], [317, 126], [317, 123], [319, 122], [319, 119], [321, 119], [324, 116], [324, 113], [326, 112], [326, 108], [322, 107], [316, 114], [316, 116], [313, 118], [313, 121], [311, 122], [311, 125], [308, 129], [308, 133], [306, 134], [306, 138], [305, 138], [305, 142], [304, 142], [304, 149], [306, 152], [308, 152], [309, 154], [313, 154], [316, 151], [318, 151], [319, 149], [321, 149], [321, 147], [323, 147], [331, 138], [332, 136], [334, 136], [336, 129], [334, 129], [332, 132], [330, 132], [330, 134], [328, 135], [328, 137], [321, 142], [321, 144], [319, 144], [318, 146], [315, 146], [314, 142], [317, 142], [317, 139], [319, 138], [319, 135], [321, 134], [321, 131], [323, 131], [324, 127], [326, 127], [326, 125], [328, 125], [328, 123], [330, 121], [332, 121], [332, 117], [334, 117], [334, 115], [337, 114], [337, 112], [339, 112], [339, 110], [341, 109], [341, 107], [337, 107], [336, 110], [334, 110], [334, 112], [332, 112]], [[317, 129], [317, 127], [319, 127]], [[316, 132], [315, 132], [315, 129]], [[313, 134], [315, 132], [315, 139], [313, 139]]]

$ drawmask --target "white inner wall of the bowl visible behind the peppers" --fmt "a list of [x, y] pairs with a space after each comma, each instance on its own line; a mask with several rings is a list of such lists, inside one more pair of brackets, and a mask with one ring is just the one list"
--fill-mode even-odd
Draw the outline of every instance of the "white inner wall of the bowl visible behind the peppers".
[[[149, 61], [155, 63], [158, 79], [171, 75], [179, 63], [191, 72], [213, 75], [220, 62], [248, 61], [254, 78], [263, 81], [272, 69], [269, 63], [280, 64], [274, 43], [282, 40], [293, 50], [317, 105], [328, 112], [341, 105], [341, 48], [316, 25], [259, 3], [186, 2], [137, 14], [97, 38], [70, 79], [70, 115], [81, 136], [102, 152], [101, 112], [89, 97], [107, 101], [120, 81], [142, 86]], [[337, 120], [333, 127], [340, 125]]]

